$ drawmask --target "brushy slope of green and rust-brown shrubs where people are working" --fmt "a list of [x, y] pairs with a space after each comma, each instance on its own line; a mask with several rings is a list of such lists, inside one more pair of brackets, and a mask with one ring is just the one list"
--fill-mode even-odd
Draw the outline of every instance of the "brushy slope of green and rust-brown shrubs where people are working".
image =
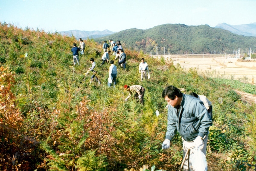
[[[171, 147], [162, 150], [167, 110], [161, 94], [168, 85], [212, 101], [209, 171], [255, 170], [256, 105], [244, 102], [232, 82], [201, 77], [195, 68], [186, 72], [172, 61], [126, 48], [127, 70], [118, 66], [116, 88], [108, 88], [109, 65], [100, 66], [102, 46], [84, 40], [81, 65], [73, 66], [74, 42], [75, 37], [1, 23], [1, 171], [139, 171], [143, 165], [149, 170], [178, 170], [181, 137], [175, 136]], [[91, 57], [100, 85], [84, 77]], [[151, 73], [143, 82], [138, 71], [142, 57]], [[125, 84], [145, 87], [143, 106], [133, 98], [125, 102]], [[255, 90], [253, 85], [235, 84], [240, 91]]]

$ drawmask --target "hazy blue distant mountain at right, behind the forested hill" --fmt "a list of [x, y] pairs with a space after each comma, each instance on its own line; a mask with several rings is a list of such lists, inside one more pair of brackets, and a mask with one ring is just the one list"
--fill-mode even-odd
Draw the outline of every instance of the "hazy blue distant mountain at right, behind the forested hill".
[[234, 34], [256, 37], [256, 23], [241, 25], [229, 25], [227, 23], [221, 23], [215, 26], [215, 28], [222, 28]]

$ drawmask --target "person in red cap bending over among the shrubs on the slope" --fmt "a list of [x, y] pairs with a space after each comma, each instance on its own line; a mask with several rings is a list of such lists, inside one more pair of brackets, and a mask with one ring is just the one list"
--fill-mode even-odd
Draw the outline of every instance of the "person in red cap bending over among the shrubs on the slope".
[[134, 94], [134, 98], [135, 99], [139, 99], [140, 103], [143, 105], [144, 104], [144, 92], [145, 92], [145, 88], [141, 85], [124, 85], [125, 90], [127, 90], [129, 92], [129, 95], [126, 97], [125, 101], [127, 101], [132, 93]]

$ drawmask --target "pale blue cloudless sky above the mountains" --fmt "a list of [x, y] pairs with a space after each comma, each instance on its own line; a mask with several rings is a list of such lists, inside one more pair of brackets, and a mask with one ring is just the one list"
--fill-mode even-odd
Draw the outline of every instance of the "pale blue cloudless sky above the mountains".
[[0, 22], [49, 31], [256, 22], [256, 0], [0, 0]]

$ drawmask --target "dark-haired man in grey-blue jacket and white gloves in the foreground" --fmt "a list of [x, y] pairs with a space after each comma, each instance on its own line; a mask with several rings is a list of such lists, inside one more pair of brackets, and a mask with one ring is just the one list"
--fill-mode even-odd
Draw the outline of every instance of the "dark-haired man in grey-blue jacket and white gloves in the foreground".
[[[169, 104], [166, 139], [162, 148], [168, 149], [177, 131], [183, 142], [184, 171], [207, 171], [206, 147], [212, 118], [201, 100], [183, 94], [173, 85], [163, 90], [162, 97]], [[185, 156], [190, 150], [189, 157]], [[189, 161], [188, 161], [189, 160]]]

